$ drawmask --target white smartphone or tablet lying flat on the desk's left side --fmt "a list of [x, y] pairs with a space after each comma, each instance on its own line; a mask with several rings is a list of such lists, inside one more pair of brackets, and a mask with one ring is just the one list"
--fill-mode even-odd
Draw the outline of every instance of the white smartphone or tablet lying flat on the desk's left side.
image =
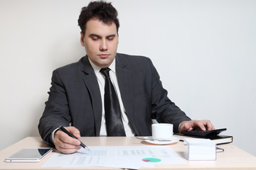
[[23, 148], [11, 154], [6, 162], [40, 162], [46, 155], [53, 151], [50, 147]]

